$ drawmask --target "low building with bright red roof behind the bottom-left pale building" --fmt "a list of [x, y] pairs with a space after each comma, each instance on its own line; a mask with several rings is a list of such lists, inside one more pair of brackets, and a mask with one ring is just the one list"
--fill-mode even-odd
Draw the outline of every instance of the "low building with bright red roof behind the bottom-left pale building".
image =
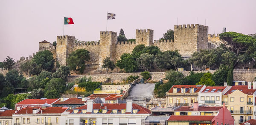
[[40, 107], [44, 105], [45, 103], [52, 106], [52, 103], [57, 101], [58, 99], [47, 99], [47, 98], [41, 98], [41, 99], [25, 99], [15, 104], [15, 109], [20, 110], [23, 107], [29, 106], [29, 107]]

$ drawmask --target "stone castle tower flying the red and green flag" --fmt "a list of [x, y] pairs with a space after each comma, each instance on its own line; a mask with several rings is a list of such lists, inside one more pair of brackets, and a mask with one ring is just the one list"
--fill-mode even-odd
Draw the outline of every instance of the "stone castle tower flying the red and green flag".
[[73, 51], [75, 36], [57, 36], [56, 61], [61, 66], [67, 65], [67, 56]]

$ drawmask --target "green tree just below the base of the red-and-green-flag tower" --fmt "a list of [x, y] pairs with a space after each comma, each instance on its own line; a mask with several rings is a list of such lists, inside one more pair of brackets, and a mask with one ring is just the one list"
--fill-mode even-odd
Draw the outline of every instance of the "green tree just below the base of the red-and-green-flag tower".
[[61, 66], [56, 72], [52, 73], [52, 78], [61, 78], [67, 82], [67, 76], [70, 75], [69, 67]]

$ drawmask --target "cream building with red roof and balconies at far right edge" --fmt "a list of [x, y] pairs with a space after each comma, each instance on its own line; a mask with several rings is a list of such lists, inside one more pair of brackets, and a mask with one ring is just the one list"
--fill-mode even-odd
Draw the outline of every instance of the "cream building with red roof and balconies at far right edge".
[[235, 119], [235, 125], [253, 119], [253, 106], [255, 105], [256, 83], [232, 86], [222, 98]]

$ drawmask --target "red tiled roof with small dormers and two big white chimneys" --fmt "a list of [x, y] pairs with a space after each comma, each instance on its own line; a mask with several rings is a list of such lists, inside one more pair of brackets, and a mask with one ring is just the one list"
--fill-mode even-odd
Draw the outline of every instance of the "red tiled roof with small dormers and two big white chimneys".
[[[121, 109], [126, 109], [126, 104], [125, 103], [122, 103], [122, 104], [103, 104], [103, 106], [101, 106], [101, 104], [93, 104], [93, 109], [104, 109], [105, 106], [107, 107], [108, 111], [106, 114], [110, 114], [112, 112], [112, 109], [118, 109], [118, 110], [121, 110]], [[80, 111], [78, 113], [81, 113], [81, 109], [87, 109], [87, 105], [85, 106], [81, 106], [81, 107], [78, 107], [78, 108], [75, 108], [75, 109], [80, 109]], [[144, 108], [142, 106], [139, 106], [137, 104], [132, 104], [132, 109], [139, 109], [139, 111], [137, 112], [137, 114], [151, 114], [151, 111], [147, 108]], [[69, 110], [70, 113], [73, 112], [73, 109], [72, 110]], [[87, 112], [87, 114], [91, 114], [90, 112]], [[127, 112], [125, 114], [131, 114], [130, 112]]]

